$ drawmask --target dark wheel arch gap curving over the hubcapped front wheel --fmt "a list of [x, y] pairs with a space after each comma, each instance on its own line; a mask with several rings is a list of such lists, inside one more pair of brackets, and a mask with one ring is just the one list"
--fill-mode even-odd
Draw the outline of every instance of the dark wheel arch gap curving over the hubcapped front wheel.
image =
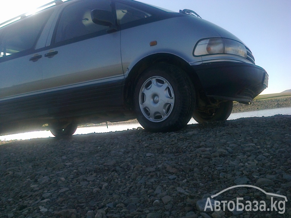
[[129, 108], [132, 108], [132, 94], [134, 93], [134, 88], [136, 81], [141, 76], [141, 74], [150, 66], [156, 65], [159, 63], [168, 63], [171, 65], [176, 65], [184, 70], [191, 82], [194, 85], [195, 92], [198, 93], [198, 90], [202, 88], [197, 74], [190, 67], [189, 63], [182, 58], [169, 54], [169, 53], [156, 53], [149, 55], [141, 60], [139, 60], [128, 72], [125, 79], [125, 85], [123, 90], [123, 95], [125, 103]]

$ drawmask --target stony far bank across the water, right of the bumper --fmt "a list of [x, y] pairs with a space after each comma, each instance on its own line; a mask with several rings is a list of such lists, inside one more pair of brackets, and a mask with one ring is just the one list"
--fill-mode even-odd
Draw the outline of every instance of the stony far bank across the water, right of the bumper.
[[244, 112], [252, 110], [265, 110], [272, 108], [286, 108], [291, 107], [290, 97], [281, 97], [268, 100], [254, 100], [251, 105], [245, 105], [238, 102], [233, 103], [233, 112]]

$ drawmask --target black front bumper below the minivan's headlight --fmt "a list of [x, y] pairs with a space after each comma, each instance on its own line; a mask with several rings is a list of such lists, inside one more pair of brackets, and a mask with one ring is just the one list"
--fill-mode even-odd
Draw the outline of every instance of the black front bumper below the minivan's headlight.
[[269, 76], [257, 65], [215, 62], [192, 67], [207, 97], [249, 103], [268, 87]]

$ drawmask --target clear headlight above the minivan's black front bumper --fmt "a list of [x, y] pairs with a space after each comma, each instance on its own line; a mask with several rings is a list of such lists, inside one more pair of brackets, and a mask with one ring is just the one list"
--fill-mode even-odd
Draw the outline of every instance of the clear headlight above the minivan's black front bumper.
[[212, 54], [232, 54], [246, 58], [246, 47], [235, 40], [225, 38], [210, 38], [200, 40], [194, 50], [194, 56]]

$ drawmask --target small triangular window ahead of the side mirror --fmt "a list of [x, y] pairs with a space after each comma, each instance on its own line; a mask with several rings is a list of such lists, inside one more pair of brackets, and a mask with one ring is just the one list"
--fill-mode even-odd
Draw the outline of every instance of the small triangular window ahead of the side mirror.
[[148, 12], [133, 8], [122, 3], [116, 3], [116, 15], [118, 25], [126, 24], [140, 19], [145, 19], [152, 16]]

